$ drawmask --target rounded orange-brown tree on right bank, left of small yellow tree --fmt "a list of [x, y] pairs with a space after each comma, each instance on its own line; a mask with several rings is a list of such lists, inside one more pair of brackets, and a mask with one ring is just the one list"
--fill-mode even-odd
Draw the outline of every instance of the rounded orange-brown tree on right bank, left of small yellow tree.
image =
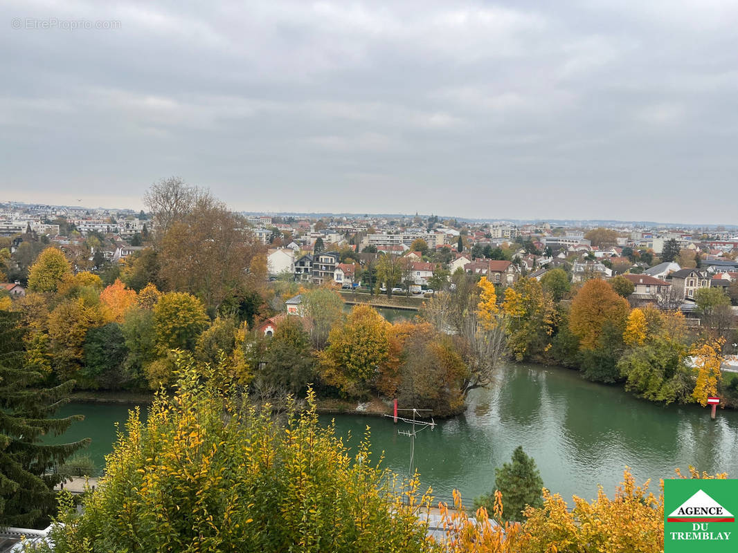
[[579, 338], [582, 349], [595, 349], [606, 323], [624, 329], [630, 313], [626, 299], [601, 279], [584, 283], [571, 302], [569, 326]]

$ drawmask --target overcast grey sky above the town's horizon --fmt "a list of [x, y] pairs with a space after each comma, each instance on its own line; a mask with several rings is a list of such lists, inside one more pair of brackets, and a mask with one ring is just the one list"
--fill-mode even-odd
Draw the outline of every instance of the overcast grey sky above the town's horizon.
[[2, 4], [2, 201], [738, 223], [738, 1]]

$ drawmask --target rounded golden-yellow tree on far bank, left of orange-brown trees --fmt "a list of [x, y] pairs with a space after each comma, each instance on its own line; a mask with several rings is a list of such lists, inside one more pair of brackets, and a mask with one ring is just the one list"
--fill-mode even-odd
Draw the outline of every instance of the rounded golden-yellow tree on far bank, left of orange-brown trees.
[[350, 397], [366, 397], [370, 380], [390, 358], [390, 324], [369, 305], [356, 305], [346, 324], [331, 330], [319, 354], [320, 376]]

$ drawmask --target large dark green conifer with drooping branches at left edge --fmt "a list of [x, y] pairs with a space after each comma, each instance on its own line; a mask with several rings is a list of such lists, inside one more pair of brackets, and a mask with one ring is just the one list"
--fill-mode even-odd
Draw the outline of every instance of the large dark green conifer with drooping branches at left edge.
[[56, 508], [54, 487], [63, 481], [49, 472], [89, 439], [41, 444], [44, 434], [62, 434], [82, 417], [49, 418], [69, 401], [75, 383], [40, 387], [41, 373], [24, 366], [18, 319], [0, 311], [0, 526], [44, 527]]

